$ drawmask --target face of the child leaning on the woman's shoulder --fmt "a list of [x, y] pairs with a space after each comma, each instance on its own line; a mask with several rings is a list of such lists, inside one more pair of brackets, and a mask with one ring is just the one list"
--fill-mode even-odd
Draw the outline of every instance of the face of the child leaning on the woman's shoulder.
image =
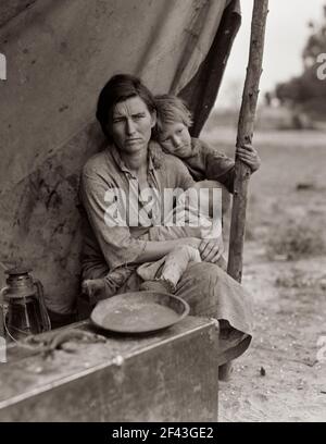
[[164, 124], [159, 135], [160, 145], [165, 151], [179, 158], [191, 155], [191, 137], [188, 127], [181, 122]]

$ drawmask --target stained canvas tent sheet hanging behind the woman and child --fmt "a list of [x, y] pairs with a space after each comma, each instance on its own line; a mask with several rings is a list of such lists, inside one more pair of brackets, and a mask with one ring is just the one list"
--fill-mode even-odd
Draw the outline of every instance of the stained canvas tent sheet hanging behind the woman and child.
[[30, 266], [53, 311], [71, 312], [78, 294], [76, 197], [82, 165], [104, 144], [99, 90], [125, 72], [179, 94], [198, 135], [239, 24], [237, 0], [0, 3], [0, 261]]

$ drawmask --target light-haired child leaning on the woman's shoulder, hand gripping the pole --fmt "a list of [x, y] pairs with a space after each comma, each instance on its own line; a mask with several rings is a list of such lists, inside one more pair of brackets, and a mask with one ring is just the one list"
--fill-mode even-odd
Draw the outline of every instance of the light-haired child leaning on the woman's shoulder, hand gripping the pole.
[[[162, 148], [180, 158], [195, 181], [214, 180], [234, 192], [235, 161], [189, 134], [192, 116], [181, 99], [172, 95], [155, 97], [158, 123], [155, 139]], [[237, 148], [239, 159], [253, 173], [260, 168], [260, 158], [251, 145]]]

